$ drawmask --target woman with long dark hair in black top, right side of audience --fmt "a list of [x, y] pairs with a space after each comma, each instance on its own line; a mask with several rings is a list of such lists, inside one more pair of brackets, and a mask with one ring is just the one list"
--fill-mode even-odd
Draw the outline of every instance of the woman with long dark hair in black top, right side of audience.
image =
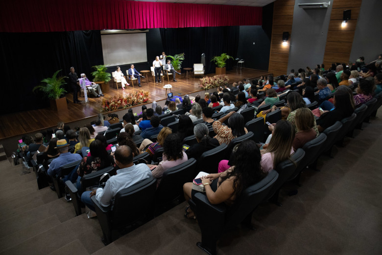
[[317, 128], [320, 132], [332, 126], [336, 121], [341, 121], [343, 118], [349, 117], [354, 112], [351, 98], [349, 94], [344, 91], [336, 91], [333, 102], [334, 109], [323, 113], [317, 121]]

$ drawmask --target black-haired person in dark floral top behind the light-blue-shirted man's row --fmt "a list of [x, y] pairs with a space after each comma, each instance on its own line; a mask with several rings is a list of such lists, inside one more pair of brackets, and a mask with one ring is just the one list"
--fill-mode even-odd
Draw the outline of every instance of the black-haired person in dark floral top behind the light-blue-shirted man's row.
[[89, 149], [91, 155], [84, 156], [78, 167], [77, 174], [79, 179], [114, 164], [113, 156], [107, 153], [105, 145], [101, 140], [95, 139], [90, 144]]

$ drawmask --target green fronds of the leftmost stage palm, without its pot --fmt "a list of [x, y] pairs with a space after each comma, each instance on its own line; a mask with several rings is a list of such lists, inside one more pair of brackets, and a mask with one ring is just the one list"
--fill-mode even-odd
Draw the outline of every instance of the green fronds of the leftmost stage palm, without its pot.
[[64, 79], [67, 78], [66, 76], [57, 77], [59, 72], [61, 70], [55, 72], [52, 77], [43, 79], [41, 82], [44, 84], [34, 87], [33, 91], [36, 89], [42, 91], [48, 99], [59, 99], [66, 92], [62, 85], [66, 84]]

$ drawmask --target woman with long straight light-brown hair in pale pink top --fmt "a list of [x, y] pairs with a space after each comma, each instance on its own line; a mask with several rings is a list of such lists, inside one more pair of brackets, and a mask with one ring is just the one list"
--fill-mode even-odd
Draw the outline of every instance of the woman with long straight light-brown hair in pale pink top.
[[294, 139], [294, 130], [292, 124], [288, 121], [279, 120], [273, 127], [272, 138], [269, 144], [264, 145], [261, 165], [264, 172], [275, 169], [276, 166], [288, 159], [292, 153], [292, 143]]

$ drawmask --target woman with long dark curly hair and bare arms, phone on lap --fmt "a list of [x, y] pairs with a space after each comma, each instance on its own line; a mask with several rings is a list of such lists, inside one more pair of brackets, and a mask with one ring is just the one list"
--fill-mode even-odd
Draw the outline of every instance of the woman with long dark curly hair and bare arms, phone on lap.
[[[211, 204], [225, 203], [228, 206], [234, 204], [246, 188], [266, 177], [267, 173], [263, 172], [260, 161], [261, 154], [256, 143], [252, 140], [241, 142], [233, 154], [235, 166], [224, 173], [210, 174], [201, 178], [208, 201]], [[192, 182], [185, 183], [183, 191], [186, 201], [193, 198], [197, 192], [192, 190]], [[190, 206], [186, 207], [185, 217], [196, 219]]]

